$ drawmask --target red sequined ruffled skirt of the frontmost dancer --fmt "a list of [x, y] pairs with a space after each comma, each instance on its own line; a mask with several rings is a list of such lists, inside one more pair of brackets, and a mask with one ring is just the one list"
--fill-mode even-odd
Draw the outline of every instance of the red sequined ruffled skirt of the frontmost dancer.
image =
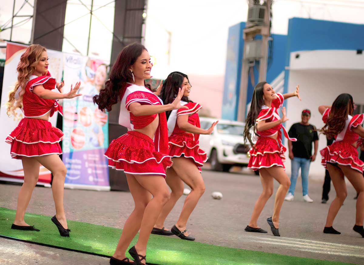
[[166, 177], [166, 169], [173, 164], [169, 155], [155, 151], [153, 139], [138, 131], [112, 140], [105, 156], [109, 167], [128, 174]]

